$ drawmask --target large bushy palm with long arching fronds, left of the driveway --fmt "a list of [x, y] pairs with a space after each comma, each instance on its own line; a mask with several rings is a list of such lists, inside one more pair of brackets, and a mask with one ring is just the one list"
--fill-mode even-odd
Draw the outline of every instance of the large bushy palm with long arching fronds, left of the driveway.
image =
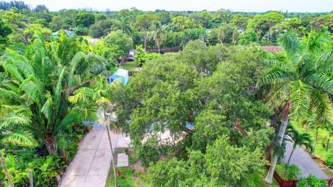
[[[7, 91], [13, 94], [12, 103], [26, 106], [33, 125], [28, 127], [39, 143], [46, 145], [49, 154], [57, 152], [56, 135], [68, 125], [81, 122], [96, 111], [96, 106], [71, 107], [67, 100], [80, 87], [89, 86], [94, 75], [105, 66], [103, 58], [83, 53], [74, 37], [62, 34], [57, 42], [45, 43], [42, 35], [20, 55], [7, 51], [1, 57], [3, 75], [10, 78]], [[0, 97], [6, 97], [0, 93]]]

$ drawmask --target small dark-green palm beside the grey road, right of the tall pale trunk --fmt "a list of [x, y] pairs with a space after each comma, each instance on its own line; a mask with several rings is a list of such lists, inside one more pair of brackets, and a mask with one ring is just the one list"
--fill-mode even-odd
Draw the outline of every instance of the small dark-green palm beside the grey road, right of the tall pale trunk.
[[291, 156], [293, 156], [293, 151], [296, 150], [297, 146], [305, 145], [305, 147], [307, 149], [309, 148], [310, 152], [312, 152], [314, 150], [314, 148], [311, 145], [312, 144], [311, 135], [308, 133], [298, 132], [293, 127], [293, 125], [290, 125], [290, 124], [288, 125], [286, 134], [284, 136], [285, 136], [284, 139], [293, 143], [293, 148], [291, 150], [287, 164], [289, 164]]

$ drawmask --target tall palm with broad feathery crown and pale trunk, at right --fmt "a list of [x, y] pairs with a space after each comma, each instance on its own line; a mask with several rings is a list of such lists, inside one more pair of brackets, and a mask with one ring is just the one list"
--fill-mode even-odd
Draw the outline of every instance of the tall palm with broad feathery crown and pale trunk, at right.
[[[269, 88], [273, 100], [282, 100], [284, 109], [280, 117], [282, 123], [276, 143], [282, 144], [289, 113], [296, 124], [309, 116], [314, 110], [318, 118], [329, 118], [330, 103], [328, 97], [333, 94], [332, 54], [325, 48], [329, 35], [324, 30], [314, 30], [303, 39], [292, 33], [280, 35], [278, 43], [284, 49], [286, 62], [268, 60], [268, 71], [259, 80], [259, 84]], [[326, 116], [326, 117], [325, 117]], [[278, 154], [274, 154], [266, 182], [272, 184]]]

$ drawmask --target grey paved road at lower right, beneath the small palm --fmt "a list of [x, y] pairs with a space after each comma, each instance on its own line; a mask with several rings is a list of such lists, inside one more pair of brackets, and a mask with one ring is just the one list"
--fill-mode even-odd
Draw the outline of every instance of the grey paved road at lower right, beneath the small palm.
[[[283, 162], [287, 163], [289, 159], [289, 155], [291, 153], [292, 144], [287, 141], [287, 148], [286, 152], [284, 153], [284, 159]], [[297, 165], [300, 170], [302, 171], [302, 175], [299, 177], [307, 177], [310, 174], [321, 178], [321, 179], [330, 179], [321, 168], [316, 164], [316, 162], [311, 159], [311, 156], [302, 150], [301, 148], [296, 148], [296, 150], [293, 152], [293, 156], [291, 157], [289, 164], [295, 164]]]

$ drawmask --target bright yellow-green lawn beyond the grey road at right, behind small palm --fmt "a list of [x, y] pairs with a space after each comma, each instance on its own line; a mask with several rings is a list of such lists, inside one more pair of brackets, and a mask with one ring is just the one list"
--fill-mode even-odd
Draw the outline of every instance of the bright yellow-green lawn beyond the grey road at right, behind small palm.
[[[297, 130], [301, 133], [304, 133], [306, 127], [302, 127], [302, 125], [298, 125]], [[312, 140], [316, 139], [316, 129], [308, 128], [307, 133], [311, 134]], [[325, 148], [322, 145], [323, 139], [328, 135], [328, 132], [323, 129], [318, 130], [318, 140], [316, 143], [316, 150], [314, 150], [314, 154], [318, 154], [320, 157], [325, 159]], [[333, 142], [333, 137], [330, 138], [330, 143]], [[332, 148], [332, 146], [330, 146]]]

